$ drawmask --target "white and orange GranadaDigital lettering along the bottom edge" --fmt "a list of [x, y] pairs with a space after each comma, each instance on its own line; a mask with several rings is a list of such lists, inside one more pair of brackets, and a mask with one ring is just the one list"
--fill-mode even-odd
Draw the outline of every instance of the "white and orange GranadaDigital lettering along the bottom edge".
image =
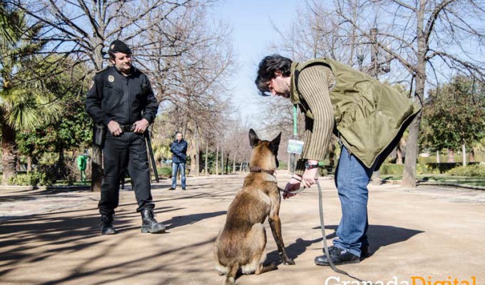
[[325, 285], [476, 285], [476, 276], [459, 278], [446, 276], [445, 278], [434, 278], [432, 276], [410, 276], [408, 280], [399, 280], [394, 276], [390, 281], [340, 281], [339, 276], [330, 276], [325, 279]]

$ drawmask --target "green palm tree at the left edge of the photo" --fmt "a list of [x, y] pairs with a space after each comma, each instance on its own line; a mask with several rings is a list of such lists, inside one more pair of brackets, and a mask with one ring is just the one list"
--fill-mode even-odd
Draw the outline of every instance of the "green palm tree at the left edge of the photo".
[[16, 134], [53, 120], [61, 110], [39, 73], [49, 71], [44, 58], [35, 56], [43, 47], [37, 38], [40, 26], [28, 26], [24, 13], [9, 9], [0, 0], [0, 128], [3, 177], [16, 175]]

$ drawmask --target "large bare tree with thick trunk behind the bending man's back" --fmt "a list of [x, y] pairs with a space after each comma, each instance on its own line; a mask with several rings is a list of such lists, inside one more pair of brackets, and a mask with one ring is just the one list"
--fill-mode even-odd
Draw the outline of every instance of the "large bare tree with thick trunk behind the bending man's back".
[[[327, 56], [354, 66], [355, 48], [375, 39], [379, 52], [392, 61], [388, 81], [407, 84], [417, 104], [427, 85], [437, 86], [456, 73], [484, 80], [481, 1], [309, 0], [303, 13], [300, 19], [309, 21], [295, 24], [280, 45], [293, 58]], [[421, 113], [409, 128], [402, 187], [416, 187], [420, 120]]]

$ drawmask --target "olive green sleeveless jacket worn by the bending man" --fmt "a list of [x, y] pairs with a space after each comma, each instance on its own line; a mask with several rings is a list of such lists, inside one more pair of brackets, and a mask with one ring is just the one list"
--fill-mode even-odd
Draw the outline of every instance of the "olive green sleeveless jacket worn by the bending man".
[[330, 67], [335, 75], [336, 82], [330, 90], [335, 134], [365, 166], [370, 168], [375, 164], [378, 169], [421, 108], [407, 96], [365, 73], [320, 58], [293, 62], [291, 66], [290, 98], [309, 118], [313, 118], [312, 112], [317, 110], [310, 110], [302, 103], [305, 99], [298, 91], [298, 75], [303, 68], [320, 64]]

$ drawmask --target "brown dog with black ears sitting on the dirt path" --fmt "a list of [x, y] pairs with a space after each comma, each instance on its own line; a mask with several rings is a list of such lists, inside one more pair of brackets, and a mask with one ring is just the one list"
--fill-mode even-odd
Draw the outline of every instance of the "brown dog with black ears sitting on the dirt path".
[[295, 264], [285, 252], [281, 235], [280, 192], [274, 172], [281, 133], [271, 142], [260, 140], [254, 130], [249, 131], [252, 147], [250, 174], [242, 190], [230, 204], [224, 228], [214, 244], [215, 267], [225, 275], [225, 284], [235, 284], [239, 269], [242, 274], [262, 274], [277, 269], [275, 263], [263, 265], [266, 260], [266, 217], [283, 264]]

